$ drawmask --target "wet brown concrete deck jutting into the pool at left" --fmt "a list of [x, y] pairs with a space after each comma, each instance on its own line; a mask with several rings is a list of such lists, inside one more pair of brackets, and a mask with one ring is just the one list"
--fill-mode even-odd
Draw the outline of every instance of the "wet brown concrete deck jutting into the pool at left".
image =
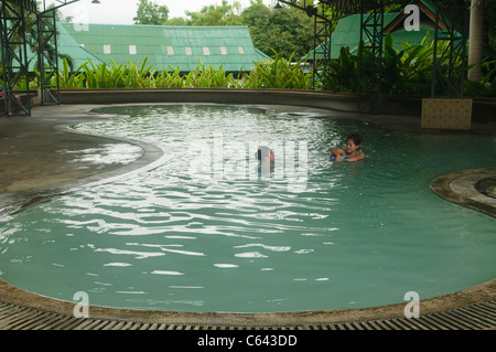
[[[71, 125], [101, 118], [90, 114], [89, 108], [35, 107], [30, 117], [0, 117], [0, 210], [24, 206], [129, 172], [162, 157], [160, 148], [142, 141], [71, 131]], [[133, 161], [107, 162], [98, 158], [121, 145], [136, 148]]]

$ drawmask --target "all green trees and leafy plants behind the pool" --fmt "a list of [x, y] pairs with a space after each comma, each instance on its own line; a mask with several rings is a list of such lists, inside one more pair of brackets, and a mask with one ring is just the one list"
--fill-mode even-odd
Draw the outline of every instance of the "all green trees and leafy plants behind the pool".
[[[308, 2], [306, 2], [308, 3]], [[303, 2], [301, 3], [303, 6]], [[466, 82], [467, 96], [496, 96], [496, 0], [484, 0], [485, 36], [483, 78], [481, 82]], [[398, 7], [388, 7], [387, 11], [400, 11]], [[332, 13], [326, 13], [332, 17]], [[61, 18], [60, 21], [71, 21]], [[137, 24], [165, 25], [247, 25], [257, 49], [271, 56], [269, 63], [258, 63], [254, 72], [248, 75], [227, 75], [220, 70], [205, 67], [200, 63], [198, 68], [186, 76], [179, 75], [179, 67], [171, 67], [171, 73], [155, 72], [147, 66], [144, 61], [140, 65], [100, 64], [91, 62], [80, 67], [74, 67], [71, 57], [64, 57], [61, 68], [62, 87], [248, 87], [248, 88], [313, 88], [313, 74], [298, 70], [303, 57], [313, 46], [313, 19], [304, 11], [293, 7], [273, 9], [263, 4], [262, 0], [250, 0], [250, 6], [241, 11], [239, 2], [204, 7], [198, 12], [187, 12], [186, 18], [169, 19], [166, 6], [158, 6], [153, 0], [140, 0]], [[31, 18], [26, 21], [30, 32], [31, 50], [36, 50], [36, 31]], [[412, 47], [406, 45], [401, 51], [392, 50], [390, 39], [385, 41], [382, 60], [382, 93], [428, 95], [432, 75], [432, 41], [425, 40], [421, 45]], [[367, 53], [364, 57], [367, 64]], [[330, 63], [325, 68], [326, 75], [317, 82], [319, 89], [335, 92], [358, 92], [358, 87], [367, 84], [367, 77], [358, 77], [358, 57], [342, 49], [338, 60]], [[365, 78], [365, 81], [364, 81]], [[362, 81], [360, 81], [362, 79]], [[25, 85], [25, 82], [20, 84]], [[30, 82], [31, 85], [31, 82]]]

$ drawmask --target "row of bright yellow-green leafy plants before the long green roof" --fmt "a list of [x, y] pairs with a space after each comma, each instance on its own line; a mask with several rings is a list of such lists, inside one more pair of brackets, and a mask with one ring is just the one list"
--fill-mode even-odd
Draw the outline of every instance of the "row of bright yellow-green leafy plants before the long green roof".
[[139, 65], [128, 62], [118, 65], [99, 63], [90, 60], [71, 72], [67, 60], [63, 58], [58, 72], [61, 88], [282, 88], [311, 89], [313, 76], [301, 70], [305, 63], [301, 60], [295, 64], [276, 53], [276, 58], [255, 63], [256, 68], [242, 75], [227, 74], [223, 66], [206, 67], [198, 60], [198, 65], [188, 74], [182, 75], [180, 67], [163, 67], [155, 73], [152, 65], [147, 65], [147, 58]]

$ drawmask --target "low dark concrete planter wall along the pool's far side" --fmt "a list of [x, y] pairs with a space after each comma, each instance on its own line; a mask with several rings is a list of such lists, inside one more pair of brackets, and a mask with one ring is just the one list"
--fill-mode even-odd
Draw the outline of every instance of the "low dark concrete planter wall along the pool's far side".
[[[422, 116], [422, 96], [382, 97], [386, 115]], [[235, 88], [62, 89], [62, 104], [215, 103], [266, 104], [358, 111], [359, 95], [315, 90]], [[473, 98], [472, 119], [495, 121], [496, 99]]]

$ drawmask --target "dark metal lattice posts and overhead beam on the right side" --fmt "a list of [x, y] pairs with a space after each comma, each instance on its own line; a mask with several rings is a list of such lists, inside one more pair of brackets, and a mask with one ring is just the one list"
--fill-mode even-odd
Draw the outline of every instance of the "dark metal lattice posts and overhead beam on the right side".
[[[466, 41], [468, 33], [470, 0], [431, 0], [435, 2], [435, 31], [434, 47], [438, 43], [443, 51], [440, 56], [434, 53], [431, 96], [463, 96], [463, 79], [466, 75]], [[408, 4], [413, 0], [279, 0], [284, 4], [306, 11], [309, 15], [315, 17], [321, 23], [319, 31], [315, 24], [314, 40], [314, 67], [331, 60], [330, 23], [349, 14], [360, 14], [360, 43], [359, 43], [359, 104], [358, 111], [380, 111], [382, 94], [380, 92], [382, 71], [382, 31], [384, 12], [387, 4]], [[316, 3], [316, 6], [314, 6]], [[319, 11], [319, 6], [322, 10]], [[325, 9], [331, 9], [332, 17], [325, 14]], [[448, 31], [439, 31], [438, 23], [450, 22], [459, 24], [451, 25]], [[323, 47], [322, 57], [316, 57], [315, 49]], [[363, 62], [363, 52], [367, 49], [371, 62], [367, 65]], [[462, 61], [461, 65], [455, 65]], [[445, 63], [448, 62], [448, 65]], [[448, 68], [445, 68], [448, 67]], [[320, 73], [314, 71], [315, 75]], [[441, 82], [441, 87], [438, 82]]]

